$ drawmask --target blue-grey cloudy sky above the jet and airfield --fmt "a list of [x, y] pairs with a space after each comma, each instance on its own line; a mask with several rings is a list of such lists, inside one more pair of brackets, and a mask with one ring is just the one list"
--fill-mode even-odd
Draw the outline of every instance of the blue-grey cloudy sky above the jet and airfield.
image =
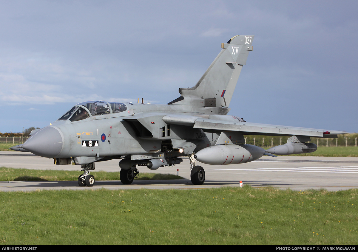
[[358, 132], [357, 1], [0, 1], [0, 132], [73, 104], [168, 103], [255, 35], [229, 114]]

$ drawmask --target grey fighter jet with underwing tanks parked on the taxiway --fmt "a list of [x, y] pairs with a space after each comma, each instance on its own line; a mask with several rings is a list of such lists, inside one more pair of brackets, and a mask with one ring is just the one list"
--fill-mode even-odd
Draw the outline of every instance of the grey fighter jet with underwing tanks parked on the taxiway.
[[[227, 115], [229, 104], [254, 36], [234, 36], [192, 88], [165, 105], [92, 100], [74, 105], [51, 125], [33, 130], [10, 149], [53, 158], [55, 164], [81, 165], [79, 186], [93, 186], [95, 162], [121, 159], [120, 179], [132, 183], [137, 166], [156, 170], [190, 158], [193, 184], [203, 184], [205, 164], [241, 164], [263, 155], [314, 152], [310, 137], [337, 138], [346, 132], [249, 123]], [[268, 150], [245, 144], [244, 135], [290, 136]], [[276, 156], [275, 156], [276, 157]]]

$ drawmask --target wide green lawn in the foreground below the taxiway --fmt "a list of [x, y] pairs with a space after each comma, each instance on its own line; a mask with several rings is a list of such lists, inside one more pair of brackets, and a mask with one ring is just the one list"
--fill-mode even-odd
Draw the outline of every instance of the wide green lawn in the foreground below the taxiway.
[[358, 190], [0, 192], [0, 243], [357, 245]]

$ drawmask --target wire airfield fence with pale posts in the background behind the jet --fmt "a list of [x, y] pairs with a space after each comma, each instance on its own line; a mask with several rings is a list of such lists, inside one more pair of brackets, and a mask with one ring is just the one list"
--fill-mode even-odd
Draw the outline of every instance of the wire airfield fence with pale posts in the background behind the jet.
[[[22, 136], [4, 136], [6, 133], [1, 133], [0, 143], [13, 143], [21, 144], [25, 142], [29, 137]], [[10, 133], [9, 133], [10, 134]], [[262, 135], [245, 135], [245, 143], [260, 146], [262, 148], [270, 148], [273, 146], [287, 143], [289, 137], [270, 137]], [[338, 138], [314, 138], [311, 137], [311, 143], [317, 144], [317, 146], [355, 146], [357, 147], [358, 133], [339, 135]]]

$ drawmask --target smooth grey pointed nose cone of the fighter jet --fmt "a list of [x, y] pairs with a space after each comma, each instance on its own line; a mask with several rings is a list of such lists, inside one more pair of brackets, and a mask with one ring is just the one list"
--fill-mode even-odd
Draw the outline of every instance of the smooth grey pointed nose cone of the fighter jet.
[[54, 158], [61, 152], [62, 142], [59, 130], [48, 126], [32, 135], [21, 148], [41, 157]]

